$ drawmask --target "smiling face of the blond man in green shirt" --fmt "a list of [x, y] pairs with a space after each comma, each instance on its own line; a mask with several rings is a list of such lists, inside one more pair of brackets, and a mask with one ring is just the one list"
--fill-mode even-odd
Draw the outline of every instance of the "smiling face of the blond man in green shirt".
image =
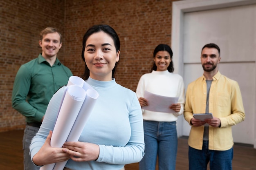
[[43, 39], [39, 41], [39, 45], [42, 47], [42, 56], [44, 58], [47, 59], [57, 56], [62, 46], [60, 39], [61, 37], [57, 32], [47, 33], [43, 36]]

